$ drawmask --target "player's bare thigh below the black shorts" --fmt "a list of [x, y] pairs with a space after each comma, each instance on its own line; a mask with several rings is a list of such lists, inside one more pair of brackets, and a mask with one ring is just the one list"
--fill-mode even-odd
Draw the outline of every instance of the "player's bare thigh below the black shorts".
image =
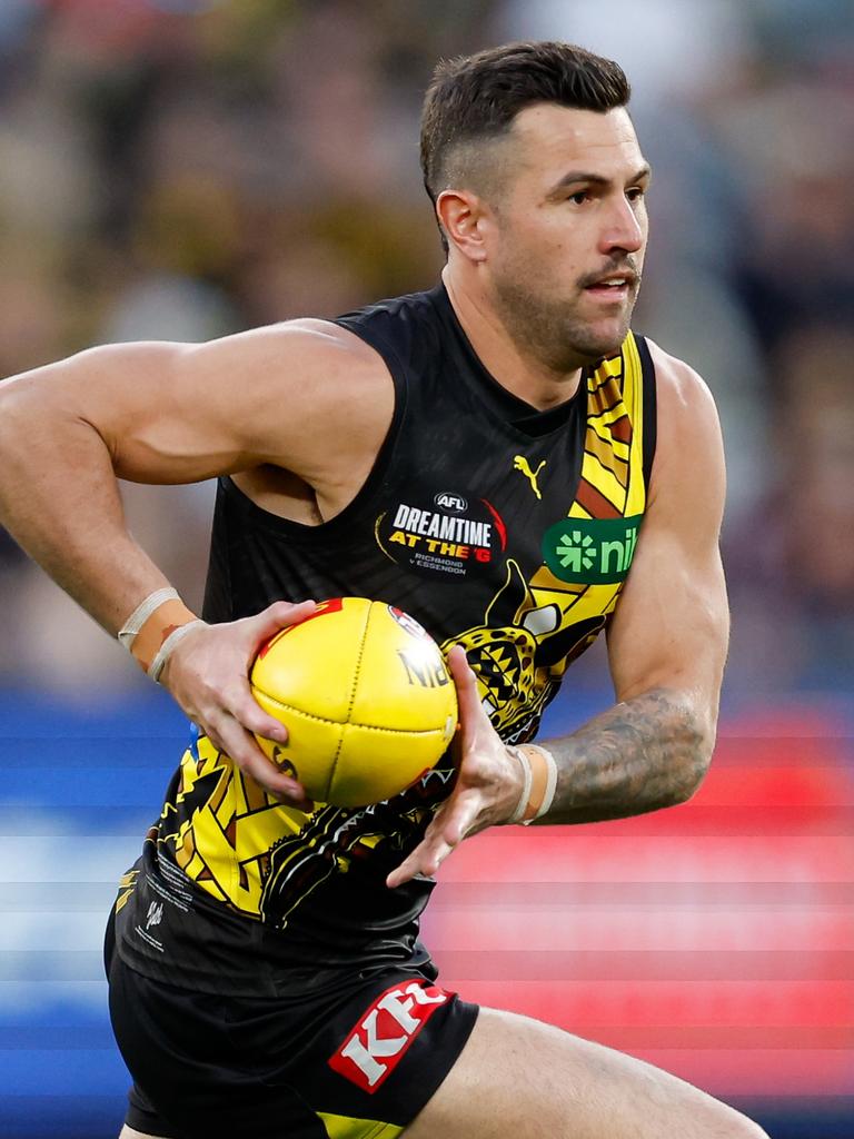
[[642, 1060], [528, 1017], [481, 1014], [407, 1139], [767, 1139]]

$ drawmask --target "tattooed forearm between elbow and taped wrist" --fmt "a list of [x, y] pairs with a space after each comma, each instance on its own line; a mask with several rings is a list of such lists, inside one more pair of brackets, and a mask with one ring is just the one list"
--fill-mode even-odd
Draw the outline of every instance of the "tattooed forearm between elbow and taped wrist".
[[712, 753], [704, 718], [666, 688], [617, 704], [547, 746], [558, 781], [544, 823], [622, 819], [682, 803]]

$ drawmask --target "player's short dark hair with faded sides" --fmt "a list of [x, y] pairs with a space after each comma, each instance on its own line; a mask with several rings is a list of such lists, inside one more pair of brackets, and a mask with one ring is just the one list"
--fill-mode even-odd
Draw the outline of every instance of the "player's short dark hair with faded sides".
[[618, 64], [573, 43], [507, 43], [443, 59], [421, 114], [421, 170], [430, 200], [435, 205], [447, 188], [449, 159], [462, 144], [506, 134], [525, 107], [557, 103], [606, 112], [625, 106], [630, 96]]

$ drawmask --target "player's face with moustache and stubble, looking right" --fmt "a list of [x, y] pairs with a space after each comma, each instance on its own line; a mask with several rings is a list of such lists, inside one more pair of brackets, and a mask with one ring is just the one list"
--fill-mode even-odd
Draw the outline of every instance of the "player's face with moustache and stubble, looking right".
[[627, 112], [537, 104], [501, 147], [484, 263], [499, 317], [557, 370], [616, 351], [647, 244], [649, 167]]

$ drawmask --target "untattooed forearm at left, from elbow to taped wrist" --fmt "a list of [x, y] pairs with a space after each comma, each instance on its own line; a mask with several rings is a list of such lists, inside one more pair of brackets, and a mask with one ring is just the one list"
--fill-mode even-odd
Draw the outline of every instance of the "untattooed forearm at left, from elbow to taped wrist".
[[0, 386], [0, 522], [115, 633], [165, 577], [128, 532], [104, 440], [17, 384]]

